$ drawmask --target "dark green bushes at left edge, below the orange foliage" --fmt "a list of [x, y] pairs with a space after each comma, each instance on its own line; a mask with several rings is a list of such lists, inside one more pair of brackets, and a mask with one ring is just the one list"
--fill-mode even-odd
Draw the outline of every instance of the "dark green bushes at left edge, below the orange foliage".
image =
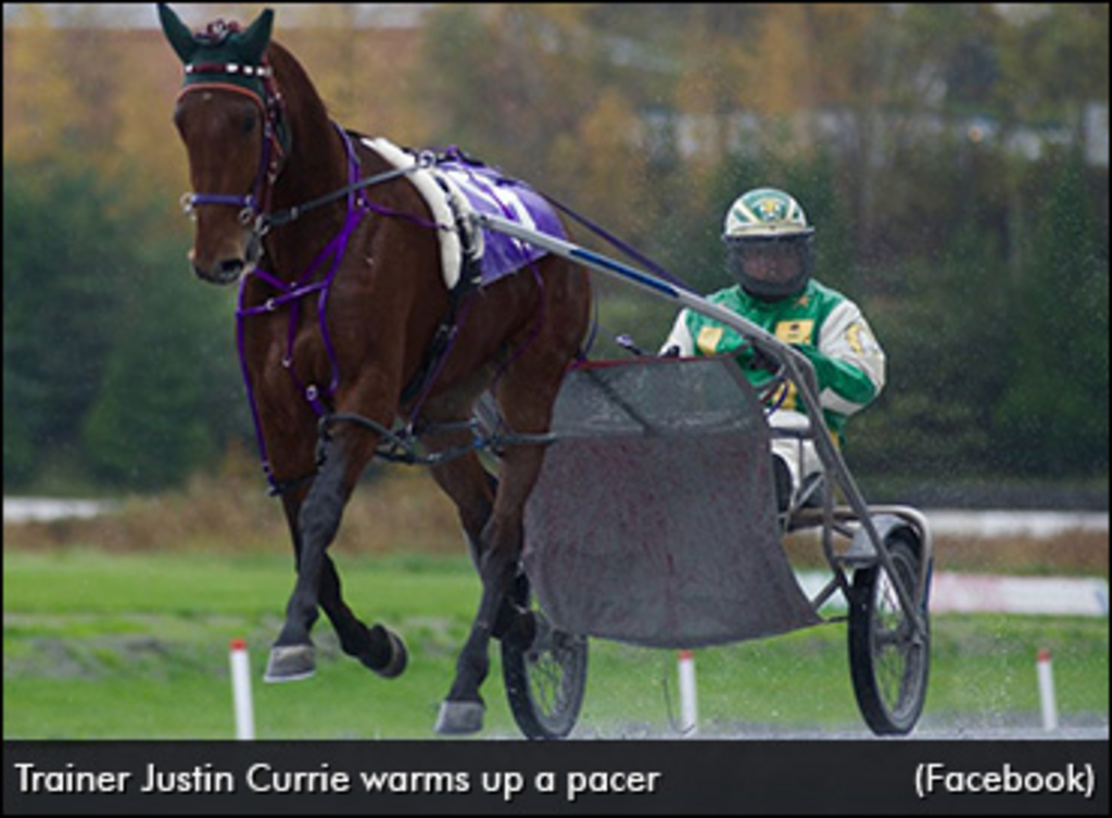
[[222, 413], [242, 420], [241, 390], [228, 311], [180, 248], [92, 171], [6, 166], [9, 486], [56, 457], [135, 489], [212, 462], [228, 433], [216, 410], [231, 396]]

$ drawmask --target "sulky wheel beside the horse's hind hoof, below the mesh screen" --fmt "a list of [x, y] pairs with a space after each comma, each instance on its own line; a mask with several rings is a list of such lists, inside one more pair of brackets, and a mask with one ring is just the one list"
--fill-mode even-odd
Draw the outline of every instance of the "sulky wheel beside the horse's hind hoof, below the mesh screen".
[[[519, 602], [528, 602], [528, 583], [518, 578]], [[575, 727], [587, 686], [587, 638], [554, 629], [540, 610], [536, 637], [528, 647], [502, 642], [502, 670], [514, 720], [530, 739], [562, 739]]]

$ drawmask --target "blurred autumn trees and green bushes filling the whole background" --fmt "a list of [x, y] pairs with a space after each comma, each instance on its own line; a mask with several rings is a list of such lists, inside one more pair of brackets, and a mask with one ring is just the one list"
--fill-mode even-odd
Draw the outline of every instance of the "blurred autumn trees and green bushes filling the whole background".
[[[36, 9], [6, 38], [4, 479], [173, 484], [254, 442], [229, 294], [191, 279], [168, 218], [172, 89]], [[790, 190], [818, 277], [888, 355], [847, 430], [855, 472], [1106, 480], [1109, 177], [1078, 154], [1108, 99], [1105, 4], [436, 4], [381, 82], [350, 62], [383, 33], [316, 13], [340, 24], [287, 33], [345, 120], [368, 109], [345, 124], [459, 145], [696, 289], [728, 284], [729, 201]], [[90, 53], [112, 59], [72, 70]], [[1054, 139], [1014, 149], [1036, 132]], [[599, 283], [605, 328], [654, 348], [674, 309], [618, 289]]]

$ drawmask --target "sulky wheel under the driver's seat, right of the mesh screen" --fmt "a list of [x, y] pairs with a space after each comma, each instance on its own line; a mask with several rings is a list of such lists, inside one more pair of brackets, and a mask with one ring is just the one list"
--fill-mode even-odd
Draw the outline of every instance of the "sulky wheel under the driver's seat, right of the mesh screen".
[[[911, 599], [916, 599], [920, 575], [917, 549], [905, 532], [892, 532], [884, 546], [896, 576]], [[931, 661], [930, 624], [917, 634], [880, 565], [858, 569], [853, 575], [850, 607], [850, 670], [853, 690], [865, 723], [877, 736], [904, 735], [915, 727], [926, 699]]]

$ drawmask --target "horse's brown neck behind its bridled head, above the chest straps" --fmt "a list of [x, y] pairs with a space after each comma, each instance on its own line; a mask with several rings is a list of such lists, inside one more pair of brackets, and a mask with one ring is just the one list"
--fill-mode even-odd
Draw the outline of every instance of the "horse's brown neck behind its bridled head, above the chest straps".
[[[290, 131], [290, 151], [274, 187], [272, 209], [280, 211], [347, 185], [348, 158], [305, 70], [276, 43], [271, 43], [270, 59]], [[340, 199], [275, 228], [266, 239], [270, 272], [285, 280], [300, 276], [320, 248], [342, 229], [346, 215], [347, 201]]]

